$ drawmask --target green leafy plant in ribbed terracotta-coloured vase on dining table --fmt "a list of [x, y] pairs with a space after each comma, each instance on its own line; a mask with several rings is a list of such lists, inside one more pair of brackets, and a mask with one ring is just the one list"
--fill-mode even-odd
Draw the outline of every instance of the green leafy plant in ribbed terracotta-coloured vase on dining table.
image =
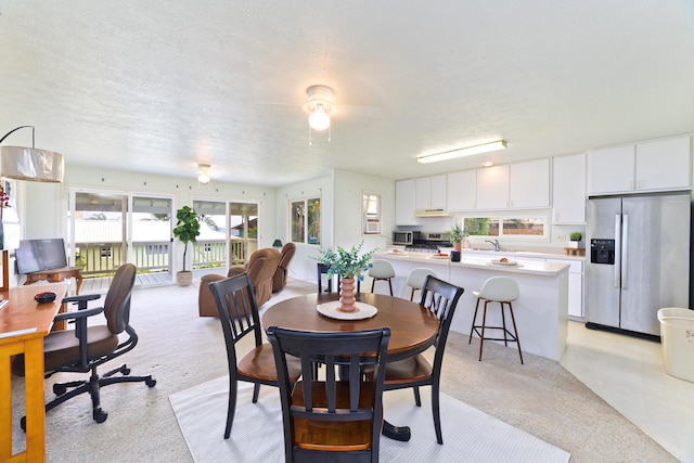
[[377, 248], [362, 254], [361, 247], [364, 242], [359, 245], [355, 245], [351, 249], [347, 250], [342, 246], [337, 246], [337, 250], [325, 249], [321, 250], [317, 257], [313, 257], [321, 263], [329, 266], [327, 278], [331, 279], [334, 275], [340, 278], [339, 288], [339, 307], [337, 310], [343, 312], [354, 312], [357, 310], [355, 303], [355, 279], [363, 280], [361, 272], [368, 270], [371, 267], [369, 261], [373, 257]]

